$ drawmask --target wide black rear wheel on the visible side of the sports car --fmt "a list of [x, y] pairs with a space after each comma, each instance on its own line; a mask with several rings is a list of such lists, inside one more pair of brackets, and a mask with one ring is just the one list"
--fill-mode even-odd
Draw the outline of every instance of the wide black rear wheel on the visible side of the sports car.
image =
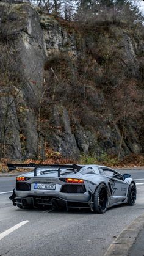
[[95, 213], [105, 213], [107, 210], [108, 196], [107, 187], [101, 183], [98, 188], [96, 188], [94, 194], [94, 212]]

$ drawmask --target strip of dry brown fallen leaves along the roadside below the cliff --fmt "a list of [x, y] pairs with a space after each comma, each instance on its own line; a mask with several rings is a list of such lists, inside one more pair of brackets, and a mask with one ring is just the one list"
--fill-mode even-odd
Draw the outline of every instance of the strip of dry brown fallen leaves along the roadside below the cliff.
[[[7, 169], [7, 163], [15, 163], [15, 164], [102, 164], [109, 167], [115, 168], [135, 168], [135, 167], [143, 167], [144, 168], [144, 155], [135, 155], [131, 154], [126, 156], [123, 160], [118, 162], [117, 156], [107, 156], [105, 159], [101, 159], [98, 161], [96, 158], [92, 158], [87, 156], [87, 158], [83, 158], [83, 161], [77, 162], [73, 159], [63, 158], [59, 152], [54, 152], [51, 148], [46, 150], [46, 160], [45, 161], [38, 161], [34, 159], [26, 159], [25, 161], [16, 161], [12, 159], [2, 159], [0, 162], [0, 172], [9, 172]], [[29, 172], [29, 169], [17, 169], [13, 170], [11, 173], [16, 172]]]

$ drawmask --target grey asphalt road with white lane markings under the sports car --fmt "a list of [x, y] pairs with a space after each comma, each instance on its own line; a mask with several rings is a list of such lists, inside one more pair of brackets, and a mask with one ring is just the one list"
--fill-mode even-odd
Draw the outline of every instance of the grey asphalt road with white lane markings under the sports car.
[[2, 194], [13, 190], [15, 177], [0, 177], [0, 256], [102, 256], [121, 230], [144, 212], [144, 169], [131, 170], [131, 176], [137, 183], [134, 207], [113, 207], [105, 214], [21, 210], [12, 206], [10, 193]]

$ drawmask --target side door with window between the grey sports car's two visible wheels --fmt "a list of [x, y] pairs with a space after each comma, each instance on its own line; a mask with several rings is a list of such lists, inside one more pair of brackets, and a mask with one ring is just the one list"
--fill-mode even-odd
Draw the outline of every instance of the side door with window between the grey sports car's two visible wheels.
[[124, 182], [123, 175], [115, 170], [103, 169], [104, 175], [109, 178], [109, 185], [112, 192], [112, 204], [123, 202], [126, 199], [128, 184]]

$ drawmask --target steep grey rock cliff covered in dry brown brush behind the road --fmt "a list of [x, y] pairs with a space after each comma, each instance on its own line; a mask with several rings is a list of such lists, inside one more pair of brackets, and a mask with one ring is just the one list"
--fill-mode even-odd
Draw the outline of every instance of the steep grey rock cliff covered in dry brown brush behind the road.
[[[113, 34], [116, 30], [112, 27]], [[144, 137], [142, 111], [135, 117], [131, 111], [124, 112], [124, 107], [117, 119], [120, 108], [115, 101], [120, 98], [122, 102], [126, 95], [111, 100], [112, 94], [106, 90], [109, 79], [115, 95], [119, 88], [124, 90], [121, 79], [123, 84], [128, 84], [130, 76], [134, 77], [131, 84], [142, 79], [137, 59], [137, 52], [143, 49], [142, 40], [138, 43], [123, 29], [118, 33], [120, 40], [115, 48], [121, 50], [116, 59], [124, 72], [129, 69], [129, 78], [119, 73], [116, 84], [114, 60], [109, 77], [104, 70], [107, 65], [109, 73], [110, 48], [99, 55], [101, 37], [103, 41], [107, 37], [101, 35], [96, 41], [93, 36], [60, 25], [52, 16], [40, 15], [29, 4], [0, 3], [4, 65], [0, 88], [1, 156], [37, 159], [45, 155], [45, 147], [73, 159], [81, 153], [100, 157], [103, 153], [124, 156], [143, 152], [143, 141], [139, 139]], [[2, 75], [6, 67], [9, 79]], [[139, 92], [142, 96], [143, 91]], [[128, 95], [129, 108], [132, 97]], [[140, 106], [135, 104], [135, 108]]]

